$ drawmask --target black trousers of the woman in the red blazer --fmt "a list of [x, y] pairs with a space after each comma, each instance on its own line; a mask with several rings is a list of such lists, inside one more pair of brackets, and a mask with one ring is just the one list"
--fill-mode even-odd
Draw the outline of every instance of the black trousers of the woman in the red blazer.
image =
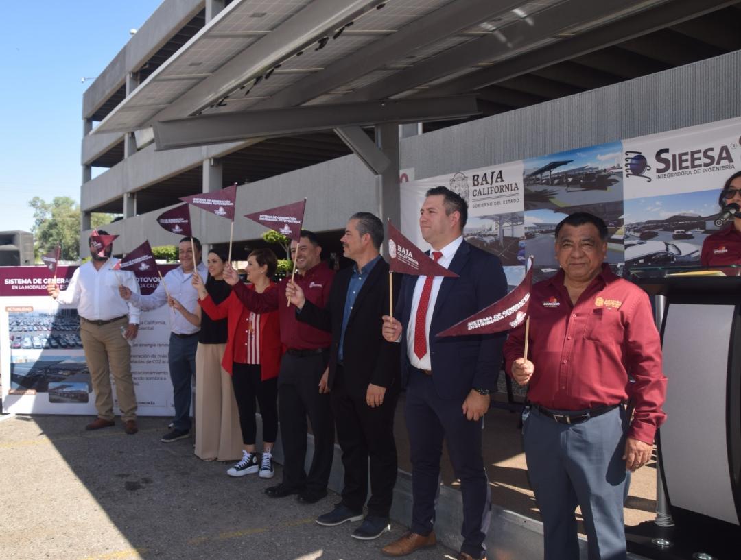
[[278, 436], [278, 378], [262, 381], [260, 374], [260, 364], [233, 364], [232, 387], [245, 445], [255, 444], [255, 401], [260, 405], [262, 416], [262, 441], [274, 443]]

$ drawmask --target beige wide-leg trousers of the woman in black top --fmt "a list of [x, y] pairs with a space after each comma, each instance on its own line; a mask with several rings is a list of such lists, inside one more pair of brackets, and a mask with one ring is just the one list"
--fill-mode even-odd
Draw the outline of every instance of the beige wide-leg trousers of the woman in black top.
[[198, 343], [196, 350], [196, 456], [242, 459], [242, 430], [231, 384], [222, 369], [226, 344]]

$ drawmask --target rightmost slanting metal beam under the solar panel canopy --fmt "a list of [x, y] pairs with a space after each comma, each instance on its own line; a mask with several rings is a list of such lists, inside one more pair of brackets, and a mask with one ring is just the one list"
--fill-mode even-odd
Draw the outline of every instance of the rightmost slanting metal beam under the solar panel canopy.
[[[496, 84], [540, 68], [574, 59], [627, 39], [645, 35], [698, 16], [735, 4], [736, 0], [676, 0], [642, 11], [640, 17], [622, 19], [587, 31], [571, 39], [563, 39], [532, 53], [500, 62], [486, 70], [451, 81], [447, 87], [434, 90], [436, 95], [453, 95]], [[595, 2], [597, 4], [597, 2]]]

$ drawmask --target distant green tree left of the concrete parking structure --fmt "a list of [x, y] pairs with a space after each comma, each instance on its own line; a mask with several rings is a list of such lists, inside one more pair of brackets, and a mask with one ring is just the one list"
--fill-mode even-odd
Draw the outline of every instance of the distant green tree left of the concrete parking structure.
[[[50, 202], [34, 196], [28, 201], [33, 208], [33, 250], [38, 260], [41, 254], [62, 245], [62, 260], [80, 258], [80, 207], [69, 196], [56, 196]], [[110, 224], [111, 214], [93, 213], [93, 227]]]

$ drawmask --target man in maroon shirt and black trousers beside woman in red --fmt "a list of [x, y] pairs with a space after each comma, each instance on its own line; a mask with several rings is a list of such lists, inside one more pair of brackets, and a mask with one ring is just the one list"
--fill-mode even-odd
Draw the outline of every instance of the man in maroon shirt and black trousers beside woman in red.
[[[302, 230], [298, 243], [290, 244], [290, 255], [298, 274], [293, 281], [306, 299], [317, 307], [327, 305], [334, 271], [321, 261], [322, 247], [310, 231]], [[298, 500], [313, 504], [327, 495], [334, 456], [334, 424], [327, 389], [329, 347], [332, 335], [296, 320], [296, 307], [288, 306], [282, 279], [276, 290], [257, 293], [239, 281], [231, 267], [224, 279], [236, 296], [254, 313], [278, 310], [280, 338], [287, 348], [278, 375], [278, 419], [283, 443], [283, 481], [268, 487], [273, 498], [298, 494]], [[308, 416], [314, 436], [314, 453], [308, 475], [304, 469]]]

